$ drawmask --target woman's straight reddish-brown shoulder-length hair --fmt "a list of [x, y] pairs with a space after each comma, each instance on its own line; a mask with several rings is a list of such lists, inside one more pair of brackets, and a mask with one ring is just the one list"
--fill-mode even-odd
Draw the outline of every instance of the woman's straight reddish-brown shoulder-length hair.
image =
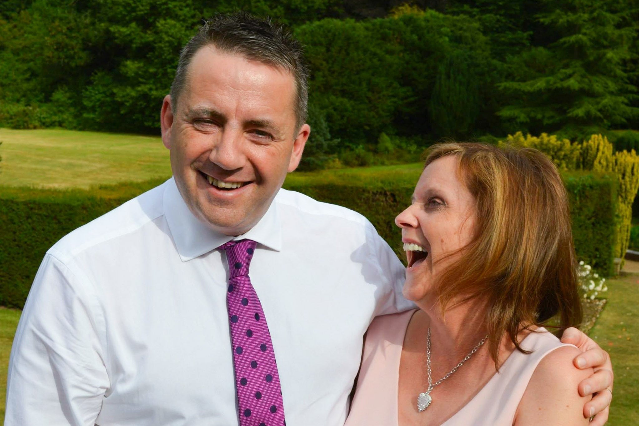
[[554, 316], [561, 330], [581, 323], [566, 189], [553, 162], [535, 149], [437, 144], [425, 167], [450, 155], [459, 158], [477, 217], [472, 241], [438, 279], [438, 303], [442, 312], [475, 298], [488, 303], [488, 346], [499, 367], [504, 334], [525, 352], [518, 334], [527, 326]]

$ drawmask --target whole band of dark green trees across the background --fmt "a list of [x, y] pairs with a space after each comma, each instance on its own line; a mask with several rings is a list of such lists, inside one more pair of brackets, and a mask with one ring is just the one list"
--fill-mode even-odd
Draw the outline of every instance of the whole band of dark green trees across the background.
[[203, 19], [236, 10], [306, 45], [314, 130], [302, 167], [343, 151], [366, 164], [381, 133], [397, 153], [639, 123], [639, 13], [627, 1], [4, 0], [0, 125], [157, 134], [181, 47]]

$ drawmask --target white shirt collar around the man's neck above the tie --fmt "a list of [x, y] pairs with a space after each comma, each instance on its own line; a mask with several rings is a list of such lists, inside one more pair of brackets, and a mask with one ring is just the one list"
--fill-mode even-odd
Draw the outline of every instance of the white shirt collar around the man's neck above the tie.
[[200, 222], [182, 199], [174, 178], [166, 181], [162, 202], [169, 231], [183, 262], [208, 253], [228, 241], [244, 238], [277, 252], [282, 248], [282, 226], [275, 200], [254, 227], [236, 237], [220, 234]]

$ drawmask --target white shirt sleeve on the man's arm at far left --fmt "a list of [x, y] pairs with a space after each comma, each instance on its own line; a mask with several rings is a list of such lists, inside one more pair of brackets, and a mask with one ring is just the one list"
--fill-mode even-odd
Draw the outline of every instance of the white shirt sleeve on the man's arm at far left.
[[95, 424], [109, 388], [104, 316], [78, 275], [45, 255], [13, 340], [5, 425]]

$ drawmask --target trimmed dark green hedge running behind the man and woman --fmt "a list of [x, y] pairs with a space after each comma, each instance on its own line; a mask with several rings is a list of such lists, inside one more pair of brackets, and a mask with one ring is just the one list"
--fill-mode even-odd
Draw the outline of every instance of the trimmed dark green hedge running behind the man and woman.
[[[574, 244], [581, 260], [605, 275], [613, 273], [615, 241], [615, 181], [607, 176], [564, 175], [573, 215]], [[369, 218], [390, 247], [404, 258], [401, 234], [394, 217], [410, 202], [412, 179], [391, 179], [350, 185], [325, 179], [291, 179], [286, 188], [319, 201], [341, 204]], [[105, 186], [93, 190], [33, 190], [3, 188], [0, 201], [0, 305], [22, 308], [42, 257], [73, 229], [158, 185], [146, 183]]]

